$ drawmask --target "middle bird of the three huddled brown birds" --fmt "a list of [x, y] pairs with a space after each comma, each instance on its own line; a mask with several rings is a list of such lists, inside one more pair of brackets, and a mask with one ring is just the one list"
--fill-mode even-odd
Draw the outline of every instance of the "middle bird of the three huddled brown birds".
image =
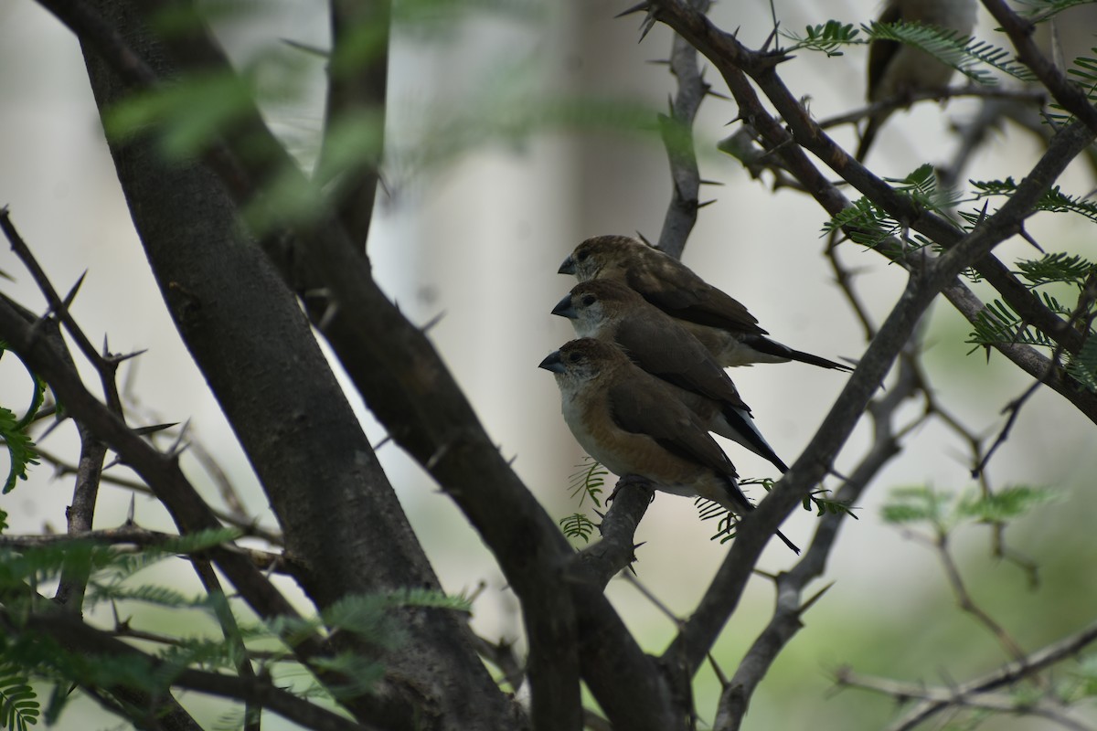
[[566, 317], [579, 338], [615, 343], [647, 373], [661, 378], [709, 431], [738, 442], [789, 470], [758, 431], [738, 389], [712, 354], [672, 317], [612, 279], [572, 287], [553, 315]]

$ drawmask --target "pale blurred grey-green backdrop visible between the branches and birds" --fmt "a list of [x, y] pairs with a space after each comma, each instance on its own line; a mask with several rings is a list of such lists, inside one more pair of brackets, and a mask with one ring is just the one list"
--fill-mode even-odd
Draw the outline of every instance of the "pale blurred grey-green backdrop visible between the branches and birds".
[[[268, 112], [276, 132], [307, 164], [321, 126], [324, 67], [280, 39], [326, 47], [326, 3], [240, 4], [253, 12], [226, 16], [216, 26], [218, 35], [241, 64], [272, 54], [294, 59], [285, 66], [292, 73], [274, 79], [285, 81], [287, 89]], [[398, 32], [387, 132], [393, 157], [369, 252], [382, 286], [412, 321], [426, 323], [442, 315], [430, 330], [436, 346], [545, 509], [556, 517], [579, 510], [595, 517], [589, 502], [580, 506], [569, 495], [569, 476], [583, 455], [561, 419], [552, 376], [536, 364], [572, 338], [568, 322], [550, 315], [573, 284], [556, 274], [567, 253], [601, 233], [658, 238], [670, 199], [666, 155], [655, 135], [612, 124], [542, 124], [534, 114], [523, 128], [510, 115], [525, 118], [530, 115], [523, 117], [523, 112], [564, 98], [664, 111], [674, 79], [666, 66], [651, 61], [667, 57], [671, 38], [657, 25], [637, 43], [641, 16], [613, 19], [631, 2], [499, 4], [500, 11], [482, 8], [456, 22]], [[782, 27], [796, 31], [827, 19], [867, 22], [879, 11], [874, 0], [774, 4]], [[739, 39], [751, 47], [761, 46], [772, 28], [770, 3], [761, 0], [721, 3], [711, 16], [725, 30], [739, 28]], [[993, 27], [981, 14], [975, 33], [993, 38]], [[1090, 13], [1060, 27], [1066, 58], [1073, 58], [1093, 45], [1097, 22]], [[1072, 30], [1081, 46], [1070, 45], [1075, 43]], [[1003, 43], [1000, 37], [994, 42]], [[781, 67], [782, 78], [817, 117], [863, 103], [863, 47], [837, 58], [800, 56]], [[710, 70], [706, 78], [724, 91], [719, 75]], [[165, 312], [114, 175], [76, 41], [32, 0], [0, 5], [0, 205], [10, 207], [58, 289], [67, 290], [88, 272], [73, 312], [93, 341], [109, 338], [113, 352], [148, 351], [123, 372], [127, 391], [140, 406], [139, 419], [189, 420], [192, 438], [213, 454], [248, 507], [273, 525], [247, 460]], [[955, 148], [950, 129], [974, 108], [973, 102], [960, 100], [897, 113], [878, 139], [870, 167], [902, 176], [924, 161], [949, 161]], [[776, 340], [829, 358], [858, 358], [863, 335], [821, 253], [824, 213], [802, 194], [772, 192], [737, 161], [715, 152], [716, 140], [735, 129], [725, 126], [735, 116], [734, 104], [713, 98], [698, 118], [701, 175], [720, 185], [702, 190], [702, 199], [715, 202], [701, 210], [683, 261], [745, 302]], [[856, 142], [850, 127], [834, 135], [847, 149]], [[1006, 127], [980, 150], [966, 176], [1019, 179], [1038, 155], [1030, 137]], [[1076, 195], [1094, 187], [1085, 168], [1072, 169], [1061, 182]], [[1031, 232], [1049, 250], [1094, 255], [1092, 224], [1081, 217], [1037, 218]], [[871, 251], [844, 247], [845, 261], [859, 273], [857, 286], [879, 323], [905, 276]], [[1004, 244], [998, 253], [1007, 262], [1037, 255], [1019, 241]], [[33, 282], [7, 249], [0, 253], [0, 270], [15, 279], [0, 284], [3, 292], [41, 311], [43, 300]], [[1029, 379], [1000, 356], [987, 362], [982, 351], [969, 353], [969, 332], [946, 302], [934, 307], [926, 330], [927, 375], [943, 404], [973, 432], [993, 438], [1004, 423], [1002, 410]], [[841, 374], [795, 363], [731, 373], [762, 433], [790, 464], [845, 382]], [[383, 430], [353, 391], [348, 393], [371, 437], [380, 442]], [[21, 409], [29, 397], [22, 368], [4, 358], [0, 403]], [[919, 409], [909, 404], [908, 415], [913, 419]], [[869, 436], [859, 427], [835, 465], [839, 472], [857, 464]], [[72, 460], [76, 445], [67, 425], [41, 446]], [[988, 530], [972, 527], [957, 536], [961, 570], [974, 598], [1029, 651], [1088, 624], [1097, 607], [1097, 534], [1090, 529], [1089, 500], [1097, 468], [1094, 447], [1093, 425], [1043, 390], [1025, 407], [991, 462], [996, 487], [1048, 486], [1061, 495], [1007, 533], [1010, 547], [1039, 564], [1038, 590], [1016, 566], [991, 558]], [[777, 477], [760, 458], [735, 445], [726, 448], [742, 475]], [[460, 512], [398, 447], [385, 445], [378, 455], [445, 590], [472, 593], [483, 587], [474, 610], [477, 631], [520, 641], [513, 595]], [[836, 693], [829, 674], [839, 665], [948, 684], [1008, 660], [983, 627], [955, 608], [936, 556], [880, 517], [893, 488], [963, 491], [972, 487], [970, 467], [965, 445], [939, 422], [929, 421], [908, 436], [902, 454], [858, 505], [860, 519], [842, 528], [826, 576], [834, 586], [804, 617], [803, 630], [761, 685], [746, 728], [885, 727], [898, 712], [893, 701], [862, 690]], [[191, 473], [216, 502], [208, 476], [194, 464]], [[827, 487], [839, 483], [832, 479]], [[760, 499], [759, 492], [756, 488], [753, 496]], [[43, 464], [30, 480], [0, 496], [0, 507], [11, 514], [11, 533], [64, 530], [70, 494], [71, 479], [55, 478]], [[122, 523], [129, 501], [129, 492], [104, 488], [97, 527]], [[135, 516], [146, 527], [170, 526], [157, 504], [143, 496], [136, 500]], [[783, 530], [806, 545], [814, 519], [800, 512]], [[699, 521], [692, 501], [670, 495], [656, 498], [640, 528], [637, 540], [644, 545], [637, 551], [637, 579], [679, 616], [697, 604], [727, 550], [711, 540], [715, 526]], [[777, 545], [767, 550], [760, 568], [778, 572], [792, 562]], [[180, 568], [150, 581], [196, 593], [191, 576]], [[612, 582], [609, 594], [643, 646], [661, 652], [674, 636], [672, 621], [624, 581]], [[772, 603], [770, 582], [756, 579], [716, 648], [727, 674], [765, 625]], [[109, 607], [100, 612], [110, 621]], [[150, 628], [171, 621], [151, 609], [135, 612]], [[711, 722], [719, 684], [710, 669], [700, 673], [697, 693], [701, 720]], [[183, 703], [212, 717], [225, 711], [223, 704], [196, 696]], [[98, 716], [91, 704], [78, 708], [63, 716], [58, 728], [114, 723]], [[286, 728], [280, 722], [271, 719], [268, 728]], [[997, 718], [984, 728], [1042, 727]]]

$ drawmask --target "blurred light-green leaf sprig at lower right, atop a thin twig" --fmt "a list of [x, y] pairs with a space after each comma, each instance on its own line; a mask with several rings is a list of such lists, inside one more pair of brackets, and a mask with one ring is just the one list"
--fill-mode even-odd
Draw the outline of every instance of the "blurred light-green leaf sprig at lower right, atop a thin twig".
[[881, 515], [886, 523], [912, 525], [926, 523], [935, 533], [947, 534], [963, 523], [1008, 523], [1055, 499], [1047, 488], [1015, 486], [986, 493], [968, 490], [960, 494], [928, 486], [892, 490]]

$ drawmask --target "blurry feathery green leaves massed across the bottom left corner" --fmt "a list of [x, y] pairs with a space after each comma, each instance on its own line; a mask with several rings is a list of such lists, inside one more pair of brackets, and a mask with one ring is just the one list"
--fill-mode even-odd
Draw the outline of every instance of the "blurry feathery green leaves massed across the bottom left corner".
[[[208, 530], [163, 541], [160, 546], [142, 549], [148, 556], [131, 556], [114, 547], [73, 541], [0, 555], [0, 592], [5, 596], [5, 609], [19, 623], [20, 617], [39, 610], [53, 610], [34, 587], [56, 581], [63, 570], [79, 569], [89, 576], [87, 604], [110, 601], [112, 604], [140, 602], [178, 610], [199, 609], [216, 618], [214, 609], [224, 606], [223, 596], [188, 597], [169, 587], [134, 584], [136, 571], [177, 553], [201, 553], [230, 540], [234, 530]], [[16, 597], [22, 596], [22, 599]], [[271, 621], [238, 621], [239, 636], [246, 644], [278, 641], [278, 649], [265, 651], [268, 662], [299, 665], [292, 659], [292, 646], [306, 631], [330, 635], [351, 632], [363, 644], [377, 650], [397, 650], [406, 632], [399, 621], [402, 609], [442, 609], [468, 612], [471, 602], [462, 596], [448, 596], [436, 590], [405, 589], [376, 594], [348, 596], [327, 607], [320, 616], [304, 619], [281, 617]], [[189, 624], [189, 623], [188, 623]], [[128, 620], [122, 626], [128, 628]], [[162, 694], [185, 669], [236, 673], [245, 660], [240, 647], [226, 642], [222, 635], [166, 638], [166, 644], [149, 656], [103, 655], [72, 652], [53, 638], [30, 626], [16, 626], [14, 631], [0, 635], [0, 720], [15, 731], [33, 724], [41, 710], [30, 689], [32, 677], [54, 684], [46, 718], [56, 720], [68, 701], [72, 685], [94, 688], [127, 686], [150, 694]], [[123, 632], [124, 635], [124, 632]], [[335, 700], [370, 693], [381, 678], [384, 666], [374, 656], [343, 653], [319, 660], [312, 670], [343, 673], [350, 681], [342, 686], [324, 689], [313, 684], [305, 695], [320, 695]], [[330, 690], [330, 693], [329, 693]]]

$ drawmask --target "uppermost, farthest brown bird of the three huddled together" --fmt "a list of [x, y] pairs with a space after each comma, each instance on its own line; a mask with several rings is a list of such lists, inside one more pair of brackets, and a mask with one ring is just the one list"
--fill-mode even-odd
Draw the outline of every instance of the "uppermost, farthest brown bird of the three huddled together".
[[738, 300], [708, 284], [680, 261], [627, 236], [596, 236], [575, 248], [559, 274], [579, 282], [613, 279], [680, 321], [721, 367], [799, 361], [822, 368], [852, 370], [818, 355], [770, 340]]

